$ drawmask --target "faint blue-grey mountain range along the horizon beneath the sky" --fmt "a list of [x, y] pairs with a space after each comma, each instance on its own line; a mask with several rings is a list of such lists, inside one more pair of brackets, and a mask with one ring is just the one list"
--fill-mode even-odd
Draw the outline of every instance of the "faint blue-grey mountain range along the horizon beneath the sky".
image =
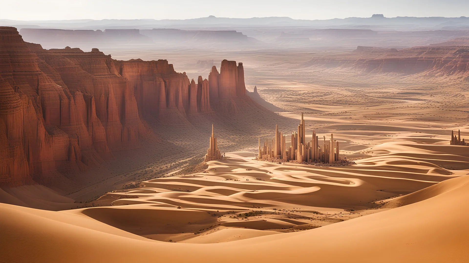
[[290, 17], [252, 17], [252, 18], [227, 18], [201, 17], [184, 20], [155, 20], [155, 19], [103, 19], [103, 20], [49, 20], [49, 21], [17, 21], [0, 19], [0, 25], [16, 26], [17, 28], [58, 28], [58, 29], [102, 29], [102, 28], [136, 28], [152, 29], [163, 27], [230, 27], [230, 26], [307, 26], [315, 28], [390, 28], [390, 29], [442, 29], [469, 26], [469, 18], [461, 17], [385, 17], [384, 15], [373, 15], [372, 17], [348, 17], [327, 20], [300, 20]]

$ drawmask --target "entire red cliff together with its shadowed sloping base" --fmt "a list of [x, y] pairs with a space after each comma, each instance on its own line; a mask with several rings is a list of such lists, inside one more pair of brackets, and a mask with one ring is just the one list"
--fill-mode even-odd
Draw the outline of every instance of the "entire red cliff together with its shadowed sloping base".
[[[8, 145], [2, 166], [9, 171], [2, 186], [36, 182], [85, 201], [141, 176], [164, 175], [175, 168], [169, 164], [204, 152], [201, 139], [212, 123], [234, 138], [220, 141], [228, 151], [250, 145], [258, 123], [293, 124], [245, 95], [242, 63], [222, 62], [211, 95], [208, 80], [189, 81], [166, 60], [44, 50], [23, 42], [15, 28], [1, 27], [0, 34]], [[252, 121], [243, 121], [247, 116]]]

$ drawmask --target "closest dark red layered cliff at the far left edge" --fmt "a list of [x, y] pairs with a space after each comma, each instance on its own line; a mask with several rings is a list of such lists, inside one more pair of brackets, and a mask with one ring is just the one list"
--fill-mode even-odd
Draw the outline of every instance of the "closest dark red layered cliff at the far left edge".
[[70, 131], [76, 124], [73, 97], [39, 69], [37, 56], [15, 28], [0, 27], [0, 36], [0, 134], [2, 144], [8, 145], [0, 161], [0, 185], [43, 181], [64, 163], [81, 164], [77, 135], [57, 128], [63, 124]]

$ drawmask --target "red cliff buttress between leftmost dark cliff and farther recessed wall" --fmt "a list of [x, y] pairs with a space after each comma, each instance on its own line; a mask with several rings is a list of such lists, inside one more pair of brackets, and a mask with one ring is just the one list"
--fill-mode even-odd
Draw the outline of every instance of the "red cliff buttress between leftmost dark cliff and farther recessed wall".
[[[138, 116], [133, 89], [121, 77], [110, 56], [98, 49], [83, 52], [80, 49], [44, 50], [36, 44], [30, 45], [38, 58], [48, 66], [41, 70], [49, 75], [60, 77], [58, 85], [65, 84], [67, 90], [89, 94], [94, 100], [95, 114], [100, 124], [95, 132], [106, 131], [107, 145], [111, 150], [124, 150], [139, 146], [138, 138], [143, 136], [143, 124]], [[63, 88], [65, 88], [63, 87]], [[48, 123], [45, 119], [46, 124]], [[54, 123], [57, 125], [57, 123]], [[59, 125], [61, 126], [61, 124]], [[102, 137], [99, 134], [98, 137]]]

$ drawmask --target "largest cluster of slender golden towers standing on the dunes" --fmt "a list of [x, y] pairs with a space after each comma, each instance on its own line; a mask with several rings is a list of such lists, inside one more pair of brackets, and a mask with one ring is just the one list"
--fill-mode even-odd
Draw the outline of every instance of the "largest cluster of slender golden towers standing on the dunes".
[[294, 131], [291, 134], [291, 143], [288, 148], [285, 146], [285, 139], [286, 136], [279, 131], [278, 125], [275, 127], [275, 138], [266, 140], [262, 147], [259, 137], [259, 154], [257, 159], [294, 163], [336, 163], [340, 161], [339, 142], [334, 140], [332, 133], [329, 140], [326, 140], [325, 136], [323, 136], [324, 142], [322, 145], [319, 144], [319, 138], [315, 131], [313, 131], [311, 139], [307, 139], [303, 113], [301, 114], [301, 123], [298, 125], [298, 131]]

